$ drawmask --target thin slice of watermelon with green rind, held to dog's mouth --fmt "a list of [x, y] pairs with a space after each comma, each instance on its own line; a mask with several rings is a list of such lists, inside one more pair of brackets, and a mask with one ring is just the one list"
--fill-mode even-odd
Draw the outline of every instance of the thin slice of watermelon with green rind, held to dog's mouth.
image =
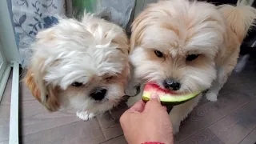
[[166, 89], [162, 89], [157, 84], [146, 83], [143, 91], [142, 100], [147, 102], [150, 100], [151, 94], [158, 94], [162, 105], [165, 106], [176, 106], [187, 102], [188, 100], [198, 96], [201, 92], [195, 92], [190, 94], [175, 94], [174, 92]]

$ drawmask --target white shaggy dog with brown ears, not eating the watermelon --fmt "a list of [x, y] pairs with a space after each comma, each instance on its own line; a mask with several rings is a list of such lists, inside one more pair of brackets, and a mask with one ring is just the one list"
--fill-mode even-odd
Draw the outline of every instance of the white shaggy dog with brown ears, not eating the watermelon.
[[46, 109], [73, 108], [88, 120], [125, 95], [130, 46], [120, 26], [92, 14], [81, 22], [59, 18], [38, 33], [32, 48], [25, 82]]

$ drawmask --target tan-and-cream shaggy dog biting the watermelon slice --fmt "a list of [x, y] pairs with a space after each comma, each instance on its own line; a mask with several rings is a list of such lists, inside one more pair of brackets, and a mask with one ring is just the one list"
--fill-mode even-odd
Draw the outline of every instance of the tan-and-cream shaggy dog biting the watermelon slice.
[[[206, 98], [216, 101], [255, 17], [256, 10], [243, 1], [237, 6], [188, 0], [150, 4], [132, 26], [134, 79], [154, 82], [176, 94], [208, 90]], [[174, 133], [201, 95], [170, 111]], [[140, 98], [140, 94], [131, 97], [128, 106]]]

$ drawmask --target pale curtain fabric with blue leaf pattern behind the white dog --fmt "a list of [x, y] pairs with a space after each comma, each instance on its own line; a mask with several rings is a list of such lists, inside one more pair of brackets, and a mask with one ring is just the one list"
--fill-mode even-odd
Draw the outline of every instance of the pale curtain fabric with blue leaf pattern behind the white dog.
[[35, 35], [58, 23], [56, 15], [66, 14], [66, 0], [12, 0], [12, 11], [16, 42], [27, 66]]

